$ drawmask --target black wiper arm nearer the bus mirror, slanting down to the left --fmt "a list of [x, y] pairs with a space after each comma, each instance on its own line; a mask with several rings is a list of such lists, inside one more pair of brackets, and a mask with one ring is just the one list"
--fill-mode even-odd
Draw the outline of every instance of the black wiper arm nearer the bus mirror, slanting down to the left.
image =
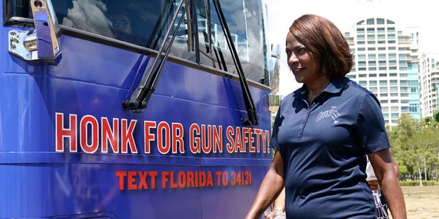
[[[192, 0], [187, 0], [187, 3], [185, 4], [185, 9], [181, 13], [182, 15], [178, 20], [178, 25], [175, 27], [174, 33], [172, 34], [172, 38], [171, 40], [169, 40], [169, 44], [166, 44], [167, 39], [169, 38], [169, 36], [171, 36], [171, 29], [174, 27], [174, 23], [177, 19], [178, 12], [180, 12], [184, 0], [180, 1], [180, 3], [178, 4], [177, 11], [172, 17], [171, 24], [169, 25], [166, 31], [165, 38], [163, 38], [163, 42], [161, 44], [160, 49], [158, 50], [158, 54], [156, 58], [154, 59], [152, 67], [147, 72], [147, 74], [143, 75], [141, 82], [139, 83], [137, 89], [134, 90], [131, 99], [122, 101], [122, 107], [124, 109], [140, 110], [140, 109], [145, 109], [147, 107], [147, 103], [150, 100], [152, 93], [154, 92], [154, 90], [156, 90], [158, 79], [161, 76], [163, 65], [165, 64], [165, 60], [169, 55], [172, 42], [174, 42], [174, 39], [176, 38], [178, 28], [180, 28], [183, 17], [185, 16], [185, 13], [189, 8], [188, 5], [190, 5], [191, 1]], [[165, 53], [163, 53], [163, 50], [165, 50]]]

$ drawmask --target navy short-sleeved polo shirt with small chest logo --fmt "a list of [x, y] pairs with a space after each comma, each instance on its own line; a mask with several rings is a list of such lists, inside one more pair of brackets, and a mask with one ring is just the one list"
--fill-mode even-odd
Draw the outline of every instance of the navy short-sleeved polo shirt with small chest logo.
[[271, 146], [284, 162], [287, 218], [376, 218], [366, 153], [390, 142], [372, 92], [343, 77], [309, 105], [302, 86], [283, 99]]

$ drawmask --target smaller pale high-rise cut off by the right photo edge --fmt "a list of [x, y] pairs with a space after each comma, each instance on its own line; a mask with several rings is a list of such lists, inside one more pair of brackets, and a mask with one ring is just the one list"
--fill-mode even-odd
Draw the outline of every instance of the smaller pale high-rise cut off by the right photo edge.
[[420, 55], [420, 111], [422, 116], [433, 116], [439, 103], [439, 54]]

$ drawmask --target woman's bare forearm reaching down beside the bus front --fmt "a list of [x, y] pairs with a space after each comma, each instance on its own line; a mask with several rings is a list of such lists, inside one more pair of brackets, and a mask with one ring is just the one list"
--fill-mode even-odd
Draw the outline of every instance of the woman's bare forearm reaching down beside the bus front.
[[268, 169], [268, 172], [259, 187], [256, 198], [254, 198], [252, 207], [250, 207], [250, 210], [247, 213], [247, 219], [255, 219], [261, 216], [263, 211], [273, 203], [274, 198], [281, 193], [284, 183], [283, 171], [283, 159], [281, 153], [276, 151], [274, 153], [272, 165]]

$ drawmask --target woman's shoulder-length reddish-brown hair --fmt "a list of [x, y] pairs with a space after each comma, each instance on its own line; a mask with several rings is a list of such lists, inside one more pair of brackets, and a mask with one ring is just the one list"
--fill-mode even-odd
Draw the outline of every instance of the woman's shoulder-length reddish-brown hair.
[[348, 42], [327, 18], [305, 14], [294, 21], [289, 32], [309, 49], [323, 75], [335, 79], [351, 71], [353, 57]]

